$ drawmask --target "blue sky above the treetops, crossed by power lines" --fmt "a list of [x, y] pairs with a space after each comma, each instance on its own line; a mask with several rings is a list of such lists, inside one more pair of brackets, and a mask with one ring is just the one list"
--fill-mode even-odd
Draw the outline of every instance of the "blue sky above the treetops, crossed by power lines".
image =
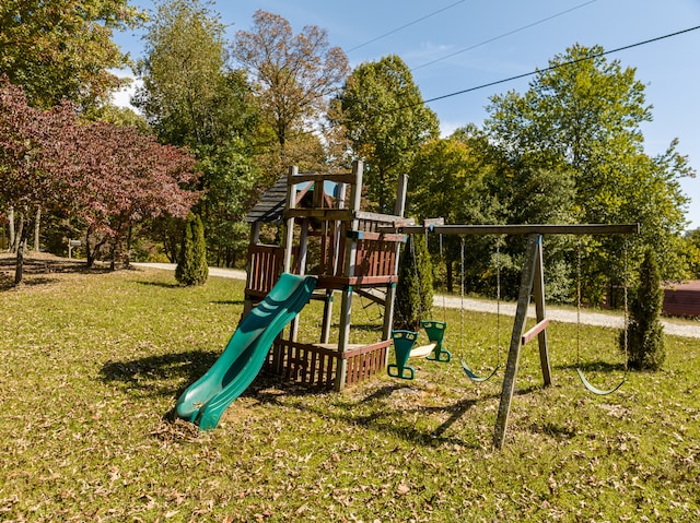
[[[151, 0], [130, 2], [152, 10]], [[257, 9], [287, 19], [296, 34], [305, 25], [325, 28], [351, 67], [398, 55], [411, 69], [423, 99], [441, 122], [443, 135], [487, 118], [489, 98], [525, 93], [532, 76], [481, 87], [548, 66], [567, 48], [600, 45], [606, 51], [700, 26], [700, 0], [215, 0], [233, 40], [248, 31]], [[115, 35], [133, 59], [142, 56], [142, 32]], [[645, 151], [654, 156], [679, 140], [700, 173], [700, 29], [608, 55], [635, 68], [646, 85], [653, 121], [641, 128]], [[128, 73], [130, 74], [130, 73]], [[481, 87], [481, 88], [475, 88]], [[115, 98], [126, 104], [128, 93]], [[700, 176], [681, 180], [690, 197], [688, 229], [700, 227]]]

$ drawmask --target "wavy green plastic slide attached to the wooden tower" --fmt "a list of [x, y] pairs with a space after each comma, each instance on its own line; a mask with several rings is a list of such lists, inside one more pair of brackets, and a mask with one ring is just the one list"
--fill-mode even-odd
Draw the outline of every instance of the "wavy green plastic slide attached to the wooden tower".
[[179, 396], [177, 416], [201, 430], [215, 428], [226, 407], [260, 372], [272, 342], [308, 304], [315, 287], [315, 276], [283, 273], [241, 322], [211, 369]]

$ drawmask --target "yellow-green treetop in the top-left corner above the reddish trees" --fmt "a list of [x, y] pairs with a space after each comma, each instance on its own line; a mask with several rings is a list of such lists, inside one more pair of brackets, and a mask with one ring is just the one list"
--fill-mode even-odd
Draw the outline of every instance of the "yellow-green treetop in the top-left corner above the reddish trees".
[[113, 32], [143, 20], [128, 0], [2, 0], [0, 73], [32, 106], [94, 105], [121, 84], [109, 70], [128, 64]]

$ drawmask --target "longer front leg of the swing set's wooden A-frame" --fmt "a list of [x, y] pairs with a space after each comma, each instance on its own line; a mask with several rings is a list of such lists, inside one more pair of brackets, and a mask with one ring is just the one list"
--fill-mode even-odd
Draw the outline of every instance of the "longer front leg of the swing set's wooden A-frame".
[[521, 338], [525, 332], [527, 308], [529, 306], [533, 281], [535, 278], [536, 258], [540, 246], [540, 235], [535, 234], [528, 238], [523, 273], [521, 275], [521, 288], [517, 295], [517, 308], [515, 310], [515, 320], [513, 322], [513, 335], [511, 336], [511, 347], [508, 353], [505, 377], [503, 378], [501, 403], [499, 404], [499, 414], [495, 419], [493, 445], [497, 449], [503, 447], [503, 441], [505, 440], [505, 429], [508, 428], [508, 418], [511, 414], [511, 403], [513, 401], [513, 391], [515, 390], [515, 377], [517, 375], [517, 366], [521, 358]]

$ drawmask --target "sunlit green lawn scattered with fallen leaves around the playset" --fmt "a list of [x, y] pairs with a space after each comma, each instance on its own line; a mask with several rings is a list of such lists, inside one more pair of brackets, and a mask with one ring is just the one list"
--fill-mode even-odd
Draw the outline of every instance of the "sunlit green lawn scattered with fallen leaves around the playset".
[[[494, 317], [450, 311], [455, 361], [419, 361], [343, 393], [260, 377], [219, 427], [165, 414], [213, 364], [243, 283], [165, 272], [28, 275], [0, 292], [2, 521], [700, 521], [700, 342], [667, 337], [658, 373], [622, 377], [616, 333], [548, 330], [555, 384], [525, 347], [502, 451]], [[368, 325], [353, 333], [372, 338]], [[317, 322], [318, 304], [304, 312]], [[442, 316], [442, 311], [436, 311]], [[357, 312], [362, 322], [364, 313]], [[502, 319], [508, 343], [511, 319]], [[308, 331], [303, 332], [312, 336]], [[505, 352], [501, 352], [505, 359]]]

